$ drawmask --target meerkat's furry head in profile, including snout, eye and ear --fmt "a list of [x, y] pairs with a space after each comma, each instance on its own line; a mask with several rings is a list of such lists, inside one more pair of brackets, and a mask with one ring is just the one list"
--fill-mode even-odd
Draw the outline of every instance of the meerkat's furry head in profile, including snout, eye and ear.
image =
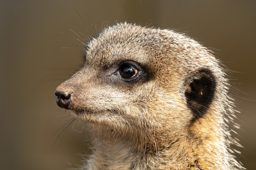
[[177, 136], [208, 114], [221, 116], [218, 96], [227, 89], [218, 85], [225, 83], [218, 65], [183, 34], [117, 24], [90, 41], [83, 67], [57, 87], [56, 102], [124, 135]]

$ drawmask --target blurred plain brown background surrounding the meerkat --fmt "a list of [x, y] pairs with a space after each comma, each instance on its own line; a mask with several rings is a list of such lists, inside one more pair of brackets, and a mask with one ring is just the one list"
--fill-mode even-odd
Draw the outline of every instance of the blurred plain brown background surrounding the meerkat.
[[81, 67], [80, 41], [124, 21], [185, 32], [236, 71], [239, 159], [255, 169], [255, 0], [0, 0], [0, 169], [81, 163], [87, 150], [81, 123], [61, 133], [70, 118], [63, 118], [69, 113], [56, 105], [54, 90]]

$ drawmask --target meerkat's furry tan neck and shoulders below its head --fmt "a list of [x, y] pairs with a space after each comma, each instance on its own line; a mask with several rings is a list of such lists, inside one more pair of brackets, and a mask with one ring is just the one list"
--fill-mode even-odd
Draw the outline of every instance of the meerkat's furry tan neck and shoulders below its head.
[[88, 161], [88, 169], [221, 169], [229, 160], [222, 142], [224, 137], [218, 131], [212, 131], [218, 128], [216, 126], [204, 129], [210, 133], [197, 131], [205, 127], [204, 123], [191, 123], [183, 134], [168, 140], [168, 143], [166, 139], [163, 143], [156, 138], [154, 143], [142, 138], [141, 142], [137, 142], [136, 139], [131, 140], [131, 137], [125, 137], [111, 129], [96, 128], [93, 144], [95, 150]]

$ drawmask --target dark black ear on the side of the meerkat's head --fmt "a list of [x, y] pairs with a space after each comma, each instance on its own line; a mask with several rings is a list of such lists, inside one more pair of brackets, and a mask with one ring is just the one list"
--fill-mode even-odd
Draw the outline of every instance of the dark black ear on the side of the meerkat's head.
[[201, 118], [213, 100], [216, 90], [215, 78], [209, 70], [200, 70], [189, 78], [186, 87], [186, 103], [195, 118]]

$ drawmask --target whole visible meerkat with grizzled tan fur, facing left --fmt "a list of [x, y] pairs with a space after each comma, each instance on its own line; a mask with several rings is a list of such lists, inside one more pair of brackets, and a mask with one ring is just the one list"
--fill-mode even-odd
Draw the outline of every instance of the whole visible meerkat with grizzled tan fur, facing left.
[[184, 34], [121, 23], [85, 47], [58, 106], [94, 136], [88, 170], [236, 170], [225, 69]]

